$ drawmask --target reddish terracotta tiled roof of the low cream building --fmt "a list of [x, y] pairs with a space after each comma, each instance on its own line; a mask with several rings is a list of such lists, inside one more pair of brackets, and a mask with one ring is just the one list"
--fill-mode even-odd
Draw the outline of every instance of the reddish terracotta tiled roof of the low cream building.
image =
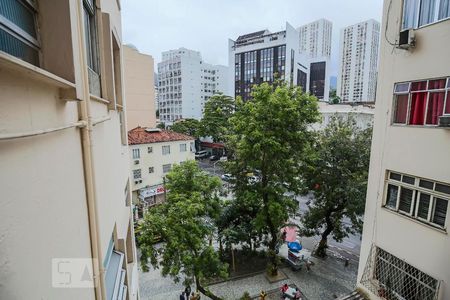
[[128, 131], [128, 144], [138, 145], [138, 144], [151, 144], [151, 143], [161, 143], [161, 142], [173, 142], [173, 141], [185, 141], [185, 140], [195, 140], [192, 136], [168, 131], [160, 130], [154, 132], [148, 132], [143, 127], [136, 127]]

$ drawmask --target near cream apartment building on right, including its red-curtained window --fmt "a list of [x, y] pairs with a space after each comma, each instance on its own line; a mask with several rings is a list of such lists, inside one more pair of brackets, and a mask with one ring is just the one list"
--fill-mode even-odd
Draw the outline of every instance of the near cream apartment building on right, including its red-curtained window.
[[370, 299], [450, 299], [448, 4], [384, 1], [358, 272]]

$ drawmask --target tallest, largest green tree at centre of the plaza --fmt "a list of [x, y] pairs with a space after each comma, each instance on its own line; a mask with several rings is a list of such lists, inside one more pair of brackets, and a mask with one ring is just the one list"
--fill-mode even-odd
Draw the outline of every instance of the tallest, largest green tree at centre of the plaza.
[[[268, 234], [269, 271], [277, 274], [280, 229], [295, 212], [287, 190], [299, 189], [300, 166], [311, 142], [310, 124], [318, 120], [317, 99], [284, 82], [253, 88], [252, 100], [237, 102], [230, 119], [233, 134], [228, 146], [233, 160], [228, 168], [236, 177], [237, 200], [259, 207], [255, 226]], [[259, 180], [249, 180], [249, 173]]]

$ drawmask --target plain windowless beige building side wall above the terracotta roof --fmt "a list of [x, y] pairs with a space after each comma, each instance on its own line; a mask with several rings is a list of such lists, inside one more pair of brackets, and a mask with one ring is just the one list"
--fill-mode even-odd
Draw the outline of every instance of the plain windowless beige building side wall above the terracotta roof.
[[153, 57], [133, 45], [123, 46], [127, 127], [155, 127], [155, 79]]

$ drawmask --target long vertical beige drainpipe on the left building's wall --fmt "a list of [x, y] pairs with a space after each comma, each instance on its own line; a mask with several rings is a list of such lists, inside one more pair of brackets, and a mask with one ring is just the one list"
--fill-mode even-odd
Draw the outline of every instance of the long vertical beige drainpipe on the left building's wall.
[[[91, 240], [92, 267], [94, 273], [95, 297], [97, 300], [106, 299], [105, 287], [105, 269], [103, 268], [101, 251], [101, 241], [98, 229], [98, 205], [97, 194], [95, 189], [95, 170], [93, 164], [93, 145], [92, 145], [92, 126], [93, 120], [91, 116], [91, 104], [89, 93], [89, 77], [87, 69], [86, 48], [85, 48], [85, 32], [83, 26], [83, 7], [82, 1], [70, 1], [71, 9], [75, 11], [75, 22], [72, 23], [76, 27], [77, 36], [74, 38], [74, 53], [78, 57], [74, 57], [75, 64], [79, 66], [75, 68], [80, 71], [79, 84], [77, 84], [77, 95], [81, 96], [82, 101], [78, 103], [78, 113], [81, 121], [87, 123], [87, 126], [81, 128], [81, 147], [83, 155], [83, 169], [86, 186], [86, 202], [89, 219], [89, 233]], [[75, 7], [74, 7], [75, 6]]]

